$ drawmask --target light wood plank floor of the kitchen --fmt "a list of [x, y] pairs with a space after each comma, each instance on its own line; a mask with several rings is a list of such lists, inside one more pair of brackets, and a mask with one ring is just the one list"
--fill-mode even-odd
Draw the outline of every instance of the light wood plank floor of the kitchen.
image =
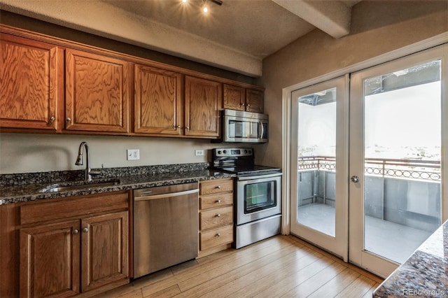
[[275, 236], [144, 276], [101, 297], [372, 297], [381, 281], [294, 236]]

